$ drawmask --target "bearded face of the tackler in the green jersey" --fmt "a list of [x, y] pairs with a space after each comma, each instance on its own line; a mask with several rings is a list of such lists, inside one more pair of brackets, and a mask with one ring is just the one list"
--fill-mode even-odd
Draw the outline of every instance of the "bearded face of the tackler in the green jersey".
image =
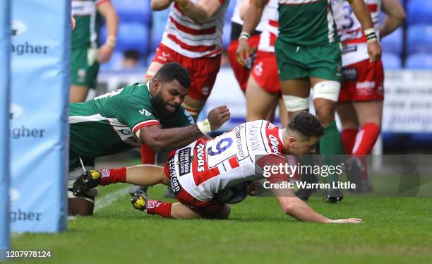
[[170, 116], [179, 109], [188, 89], [180, 85], [178, 80], [160, 82], [159, 89], [153, 98], [153, 107], [157, 114]]

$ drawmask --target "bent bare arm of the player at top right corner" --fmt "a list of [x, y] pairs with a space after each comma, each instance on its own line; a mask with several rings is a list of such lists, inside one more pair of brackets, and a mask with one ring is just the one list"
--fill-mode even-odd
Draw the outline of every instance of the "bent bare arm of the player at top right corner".
[[384, 23], [381, 25], [380, 37], [385, 37], [399, 28], [404, 23], [407, 15], [405, 15], [404, 8], [399, 0], [383, 0], [382, 9], [387, 16], [385, 16]]

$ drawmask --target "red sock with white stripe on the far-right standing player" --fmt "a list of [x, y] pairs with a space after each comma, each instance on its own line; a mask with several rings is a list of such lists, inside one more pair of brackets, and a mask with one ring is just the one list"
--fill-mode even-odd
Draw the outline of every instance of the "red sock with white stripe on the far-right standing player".
[[356, 143], [352, 149], [353, 155], [368, 155], [380, 134], [380, 127], [373, 123], [365, 124], [356, 136]]

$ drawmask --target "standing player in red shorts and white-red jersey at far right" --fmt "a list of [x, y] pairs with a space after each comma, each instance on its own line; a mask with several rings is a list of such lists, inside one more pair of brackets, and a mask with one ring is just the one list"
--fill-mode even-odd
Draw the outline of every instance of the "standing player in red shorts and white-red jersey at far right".
[[[405, 13], [398, 0], [365, 2], [375, 31], [379, 32], [378, 37], [385, 37], [402, 25]], [[375, 62], [368, 59], [366, 36], [349, 4], [344, 0], [332, 0], [332, 11], [342, 42], [343, 80], [337, 114], [342, 122], [344, 152], [354, 156], [368, 155], [380, 133], [384, 100], [383, 64], [380, 59]], [[387, 14], [381, 27], [378, 25], [380, 11]], [[371, 191], [366, 163], [363, 159], [359, 162], [352, 159], [352, 162], [364, 164], [360, 166], [363, 179], [361, 189]]]

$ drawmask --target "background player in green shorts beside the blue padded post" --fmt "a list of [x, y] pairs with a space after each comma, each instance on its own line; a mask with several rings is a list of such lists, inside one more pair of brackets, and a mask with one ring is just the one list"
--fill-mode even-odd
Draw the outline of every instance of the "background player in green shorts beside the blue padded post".
[[[107, 40], [97, 47], [100, 15], [107, 24]], [[119, 18], [109, 0], [72, 0], [71, 91], [69, 102], [84, 102], [89, 89], [96, 88], [99, 64], [109, 61], [116, 47]]]

